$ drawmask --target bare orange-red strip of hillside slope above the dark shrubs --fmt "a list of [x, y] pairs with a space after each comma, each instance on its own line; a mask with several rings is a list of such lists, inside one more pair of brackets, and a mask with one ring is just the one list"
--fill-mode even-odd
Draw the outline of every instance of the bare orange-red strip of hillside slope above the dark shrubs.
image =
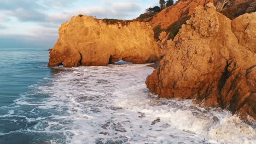
[[193, 14], [197, 6], [201, 5], [205, 7], [207, 3], [216, 1], [217, 0], [179, 0], [171, 7], [162, 10], [160, 13], [154, 16], [150, 21], [150, 24], [153, 27], [160, 26], [161, 28], [167, 28], [173, 22]]

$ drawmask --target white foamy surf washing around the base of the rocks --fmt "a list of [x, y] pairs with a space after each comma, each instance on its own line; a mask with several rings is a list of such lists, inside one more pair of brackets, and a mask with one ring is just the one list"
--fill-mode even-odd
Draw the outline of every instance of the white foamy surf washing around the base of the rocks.
[[256, 143], [255, 125], [228, 111], [150, 94], [146, 64], [59, 69], [48, 85], [31, 86], [48, 98], [16, 101], [37, 105], [33, 114], [54, 111], [27, 118], [40, 122], [26, 131], [63, 133], [65, 143]]

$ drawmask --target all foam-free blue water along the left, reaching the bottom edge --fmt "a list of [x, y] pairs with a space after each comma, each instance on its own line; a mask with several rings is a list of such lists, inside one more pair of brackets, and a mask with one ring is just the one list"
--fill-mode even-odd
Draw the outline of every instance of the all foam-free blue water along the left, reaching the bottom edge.
[[1, 48], [0, 51], [0, 143], [37, 143], [33, 140], [33, 134], [15, 133], [15, 130], [26, 129], [34, 123], [27, 122], [25, 117], [2, 116], [7, 115], [10, 110], [25, 113], [33, 108], [14, 108], [15, 100], [30, 91], [29, 86], [51, 75], [52, 70], [47, 68], [49, 51], [19, 48]]

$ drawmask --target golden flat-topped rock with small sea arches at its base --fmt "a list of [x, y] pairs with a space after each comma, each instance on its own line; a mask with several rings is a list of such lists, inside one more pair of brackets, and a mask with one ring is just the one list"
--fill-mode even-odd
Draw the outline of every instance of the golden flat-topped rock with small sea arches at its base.
[[72, 17], [59, 29], [60, 38], [50, 52], [49, 67], [106, 66], [123, 59], [153, 63], [162, 56], [152, 27], [145, 22], [107, 25], [83, 15]]

